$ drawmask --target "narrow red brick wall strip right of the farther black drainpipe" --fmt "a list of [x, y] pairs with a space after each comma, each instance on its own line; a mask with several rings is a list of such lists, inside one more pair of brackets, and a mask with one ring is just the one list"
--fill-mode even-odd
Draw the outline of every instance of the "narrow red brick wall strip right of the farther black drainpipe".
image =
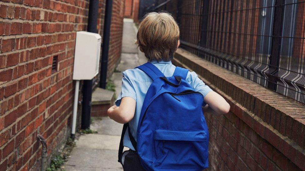
[[123, 36], [123, 18], [124, 1], [113, 0], [108, 53], [108, 78], [113, 74], [115, 67], [120, 62]]

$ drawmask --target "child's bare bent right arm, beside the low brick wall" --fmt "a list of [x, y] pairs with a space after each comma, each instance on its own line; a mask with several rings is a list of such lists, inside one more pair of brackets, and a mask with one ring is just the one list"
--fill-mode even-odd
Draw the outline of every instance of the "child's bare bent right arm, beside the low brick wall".
[[204, 97], [204, 102], [207, 103], [203, 107], [203, 111], [214, 115], [223, 115], [230, 111], [230, 105], [227, 101], [216, 92], [209, 92]]

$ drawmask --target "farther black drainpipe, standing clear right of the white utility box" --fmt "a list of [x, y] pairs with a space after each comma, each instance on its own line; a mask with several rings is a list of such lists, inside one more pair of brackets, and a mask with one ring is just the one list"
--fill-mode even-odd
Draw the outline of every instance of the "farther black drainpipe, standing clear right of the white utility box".
[[102, 63], [100, 75], [100, 88], [106, 88], [107, 79], [107, 64], [108, 64], [108, 51], [109, 51], [109, 38], [110, 38], [110, 25], [112, 13], [112, 0], [106, 1], [104, 33], [103, 33], [103, 49], [102, 49]]

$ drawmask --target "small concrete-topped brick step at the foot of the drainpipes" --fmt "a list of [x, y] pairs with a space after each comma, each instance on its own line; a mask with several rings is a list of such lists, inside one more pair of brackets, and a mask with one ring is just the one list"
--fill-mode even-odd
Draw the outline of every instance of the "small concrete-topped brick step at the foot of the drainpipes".
[[92, 93], [91, 116], [107, 116], [107, 110], [113, 106], [114, 92], [96, 88]]

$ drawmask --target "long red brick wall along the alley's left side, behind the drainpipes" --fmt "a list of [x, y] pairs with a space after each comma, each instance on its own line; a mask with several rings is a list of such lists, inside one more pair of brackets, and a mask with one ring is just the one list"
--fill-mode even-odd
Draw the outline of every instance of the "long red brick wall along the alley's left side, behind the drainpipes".
[[[113, 3], [112, 71], [120, 57], [124, 2]], [[99, 6], [103, 34], [105, 0]], [[75, 37], [87, 29], [88, 7], [89, 0], [0, 0], [0, 170], [37, 170], [37, 134], [47, 140], [48, 157], [70, 135]]]

